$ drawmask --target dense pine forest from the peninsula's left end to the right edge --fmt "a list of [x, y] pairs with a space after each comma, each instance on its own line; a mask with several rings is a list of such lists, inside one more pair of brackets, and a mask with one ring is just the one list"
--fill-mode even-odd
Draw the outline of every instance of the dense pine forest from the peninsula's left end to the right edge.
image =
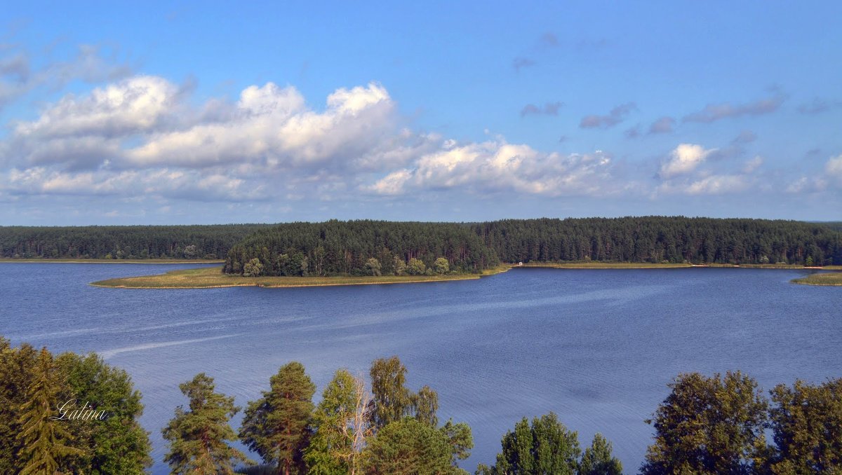
[[258, 230], [235, 245], [224, 272], [267, 276], [371, 275], [373, 268], [384, 274], [418, 272], [411, 264], [434, 272], [440, 258], [448, 261], [450, 272], [481, 272], [501, 261], [823, 266], [842, 264], [842, 233], [825, 224], [800, 221], [658, 216], [477, 224], [293, 223]]

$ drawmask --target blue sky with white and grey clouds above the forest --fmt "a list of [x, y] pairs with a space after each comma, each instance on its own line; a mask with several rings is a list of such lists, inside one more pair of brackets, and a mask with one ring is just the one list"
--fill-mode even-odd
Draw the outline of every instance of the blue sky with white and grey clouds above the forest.
[[839, 18], [839, 2], [8, 2], [0, 225], [842, 220]]

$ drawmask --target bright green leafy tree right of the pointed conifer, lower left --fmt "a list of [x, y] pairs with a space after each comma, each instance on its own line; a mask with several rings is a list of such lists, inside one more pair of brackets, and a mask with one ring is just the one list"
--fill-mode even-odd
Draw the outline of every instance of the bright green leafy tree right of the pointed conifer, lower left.
[[103, 475], [145, 473], [152, 465], [152, 447], [147, 431], [137, 422], [143, 413], [141, 393], [134, 389], [128, 373], [109, 367], [94, 354], [63, 353], [56, 358], [56, 369], [67, 378], [60, 401], [88, 402], [107, 414], [95, 423], [73, 425], [74, 445], [86, 448], [87, 453], [76, 457], [67, 470]]

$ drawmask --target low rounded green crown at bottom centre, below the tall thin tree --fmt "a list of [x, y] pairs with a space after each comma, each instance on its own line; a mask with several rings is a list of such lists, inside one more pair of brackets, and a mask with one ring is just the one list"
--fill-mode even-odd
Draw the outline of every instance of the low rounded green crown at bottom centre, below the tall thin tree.
[[377, 475], [466, 473], [456, 467], [453, 452], [443, 430], [406, 418], [384, 426], [365, 447], [364, 471]]

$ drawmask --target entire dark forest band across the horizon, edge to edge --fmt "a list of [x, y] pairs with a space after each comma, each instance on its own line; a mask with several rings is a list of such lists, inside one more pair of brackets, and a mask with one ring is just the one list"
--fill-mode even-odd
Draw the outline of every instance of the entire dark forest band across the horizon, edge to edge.
[[499, 262], [530, 261], [827, 266], [842, 265], [842, 225], [648, 216], [465, 224], [5, 226], [0, 256], [226, 259], [224, 272], [265, 276], [482, 272]]

